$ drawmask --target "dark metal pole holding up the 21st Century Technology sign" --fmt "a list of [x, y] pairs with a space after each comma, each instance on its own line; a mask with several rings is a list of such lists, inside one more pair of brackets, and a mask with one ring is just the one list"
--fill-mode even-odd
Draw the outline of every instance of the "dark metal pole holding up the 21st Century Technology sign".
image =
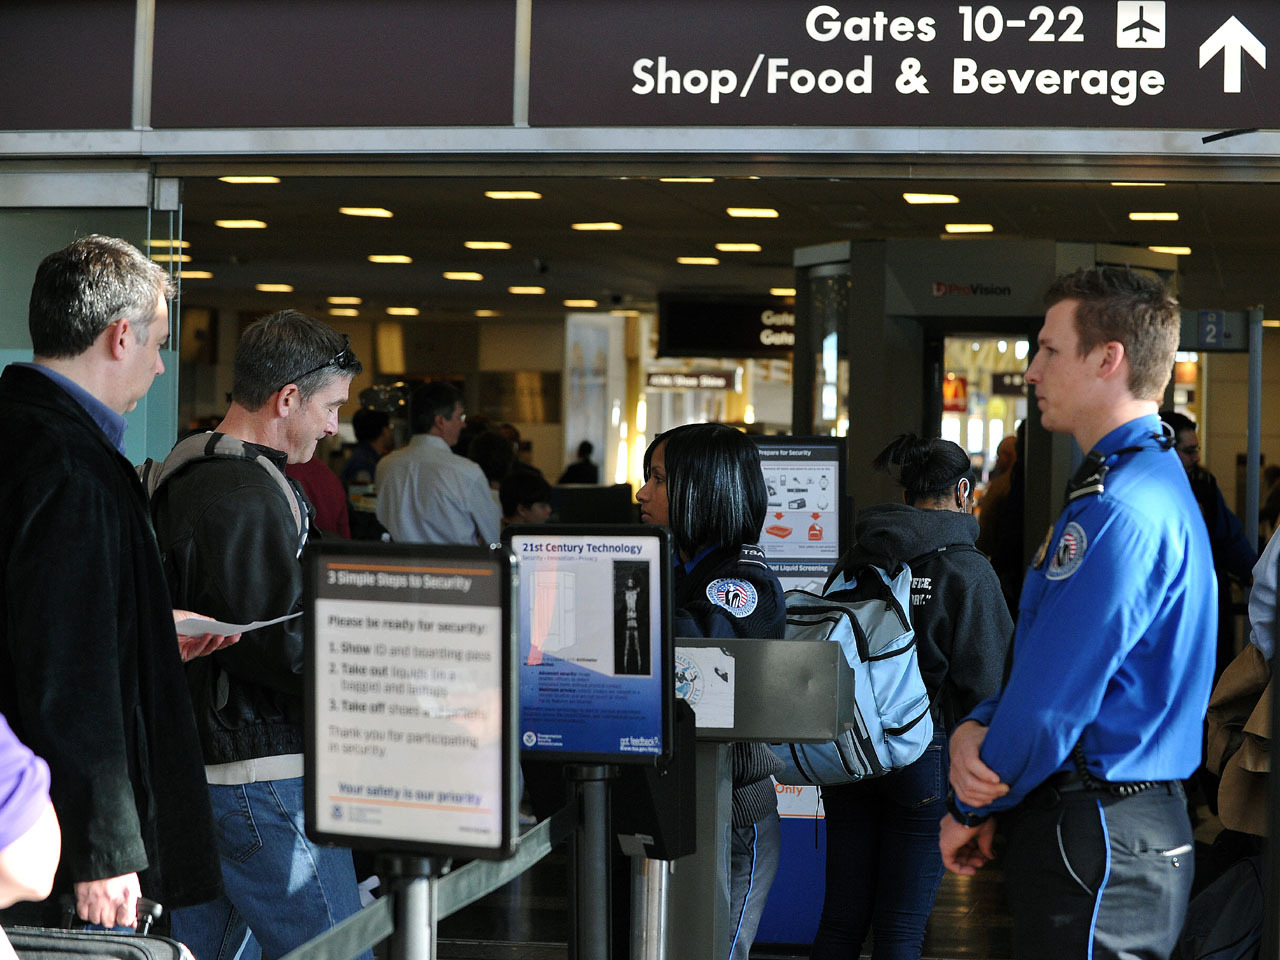
[[570, 960], [609, 957], [609, 832], [608, 799], [612, 768], [571, 765], [566, 769], [579, 804], [571, 841]]

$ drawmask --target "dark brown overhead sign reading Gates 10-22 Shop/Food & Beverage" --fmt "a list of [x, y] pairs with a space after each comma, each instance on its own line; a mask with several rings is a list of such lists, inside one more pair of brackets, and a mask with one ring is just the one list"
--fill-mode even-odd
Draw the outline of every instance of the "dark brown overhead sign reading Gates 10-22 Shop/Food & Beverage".
[[[1272, 0], [534, 4], [538, 125], [1275, 127]], [[584, 44], [584, 23], [593, 28]]]

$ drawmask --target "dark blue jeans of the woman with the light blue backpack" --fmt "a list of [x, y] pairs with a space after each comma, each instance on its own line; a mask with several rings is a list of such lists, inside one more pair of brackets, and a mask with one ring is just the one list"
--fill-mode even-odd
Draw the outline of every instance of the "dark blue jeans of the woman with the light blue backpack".
[[856, 960], [868, 931], [873, 960], [919, 960], [942, 881], [946, 773], [946, 739], [938, 732], [909, 767], [822, 788], [827, 891], [812, 960]]

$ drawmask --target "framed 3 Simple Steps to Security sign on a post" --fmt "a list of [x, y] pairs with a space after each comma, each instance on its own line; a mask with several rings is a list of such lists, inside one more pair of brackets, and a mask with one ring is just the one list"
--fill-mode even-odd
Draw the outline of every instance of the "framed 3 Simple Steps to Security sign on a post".
[[509, 855], [507, 556], [324, 541], [305, 562], [307, 832], [374, 850]]

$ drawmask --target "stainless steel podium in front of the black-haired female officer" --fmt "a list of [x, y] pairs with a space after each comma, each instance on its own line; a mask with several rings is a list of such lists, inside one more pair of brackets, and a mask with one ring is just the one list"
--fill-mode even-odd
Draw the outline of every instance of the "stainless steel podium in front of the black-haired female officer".
[[671, 956], [716, 960], [728, 952], [728, 744], [822, 742], [854, 723], [854, 677], [840, 644], [806, 640], [676, 640], [733, 657], [733, 726], [698, 723], [698, 850], [675, 860], [669, 883]]

